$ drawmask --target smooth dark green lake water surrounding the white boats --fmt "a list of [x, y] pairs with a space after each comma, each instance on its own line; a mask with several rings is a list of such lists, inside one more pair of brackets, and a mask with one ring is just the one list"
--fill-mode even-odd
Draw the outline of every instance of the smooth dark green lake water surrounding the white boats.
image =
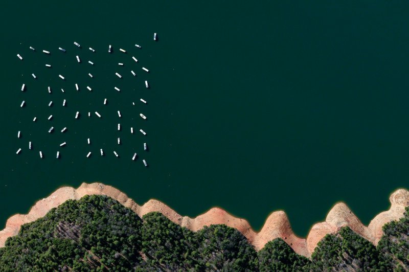
[[[8, 2], [3, 11], [0, 222], [61, 186], [100, 181], [141, 204], [160, 199], [182, 215], [220, 206], [256, 230], [284, 209], [305, 236], [336, 201], [367, 224], [389, 208], [393, 190], [408, 187], [407, 2], [44, 1]], [[102, 119], [88, 119], [95, 110]], [[47, 133], [50, 126], [55, 133]], [[141, 154], [137, 162], [133, 152]]]

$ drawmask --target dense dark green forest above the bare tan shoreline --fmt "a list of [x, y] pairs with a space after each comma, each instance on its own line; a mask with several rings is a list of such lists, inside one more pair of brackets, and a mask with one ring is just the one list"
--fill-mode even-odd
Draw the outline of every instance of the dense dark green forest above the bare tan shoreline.
[[160, 213], [140, 218], [93, 195], [22, 225], [0, 248], [0, 271], [408, 271], [409, 209], [383, 230], [375, 247], [342, 228], [321, 240], [309, 260], [282, 239], [256, 252], [226, 225], [195, 233]]

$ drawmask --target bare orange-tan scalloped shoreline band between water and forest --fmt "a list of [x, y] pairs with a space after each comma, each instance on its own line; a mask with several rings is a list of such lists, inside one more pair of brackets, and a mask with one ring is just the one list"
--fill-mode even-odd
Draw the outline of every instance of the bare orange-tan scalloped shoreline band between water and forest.
[[409, 206], [409, 191], [398, 189], [391, 194], [389, 200], [391, 208], [379, 213], [371, 220], [368, 226], [363, 225], [343, 202], [336, 203], [328, 212], [324, 222], [312, 226], [306, 239], [297, 237], [292, 232], [287, 215], [283, 211], [272, 212], [266, 219], [263, 228], [256, 233], [251, 225], [242, 218], [236, 218], [220, 208], [212, 208], [195, 218], [181, 216], [161, 201], [151, 199], [144, 205], [139, 206], [116, 188], [101, 183], [81, 184], [78, 189], [62, 187], [50, 196], [35, 203], [26, 215], [16, 214], [11, 216], [4, 230], [0, 231], [0, 247], [5, 245], [8, 237], [18, 234], [22, 224], [35, 221], [46, 215], [52, 208], [58, 207], [69, 199], [80, 199], [84, 195], [107, 195], [118, 200], [125, 207], [130, 208], [140, 217], [149, 212], [161, 212], [171, 221], [185, 226], [192, 231], [198, 231], [205, 225], [226, 224], [241, 232], [256, 250], [260, 250], [268, 242], [275, 238], [282, 238], [298, 254], [310, 257], [317, 243], [327, 234], [336, 233], [343, 226], [349, 226], [354, 232], [377, 244], [382, 237], [382, 226], [403, 216], [405, 207]]

